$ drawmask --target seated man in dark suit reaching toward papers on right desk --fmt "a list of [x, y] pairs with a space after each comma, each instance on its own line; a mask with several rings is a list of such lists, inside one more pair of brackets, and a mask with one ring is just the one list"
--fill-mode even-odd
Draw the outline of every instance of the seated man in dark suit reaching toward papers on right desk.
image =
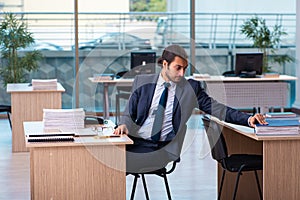
[[[127, 172], [153, 171], [178, 159], [186, 122], [194, 108], [234, 124], [253, 127], [256, 122], [266, 123], [263, 115], [250, 116], [220, 104], [205, 93], [199, 81], [186, 80], [187, 58], [182, 47], [170, 45], [158, 59], [162, 67], [159, 74], [135, 77], [125, 113], [115, 129], [115, 134], [128, 134], [134, 141], [126, 147]], [[167, 102], [161, 109], [160, 98], [165, 88]], [[159, 110], [163, 111], [162, 124], [155, 119]], [[155, 128], [158, 130], [153, 132]]]

